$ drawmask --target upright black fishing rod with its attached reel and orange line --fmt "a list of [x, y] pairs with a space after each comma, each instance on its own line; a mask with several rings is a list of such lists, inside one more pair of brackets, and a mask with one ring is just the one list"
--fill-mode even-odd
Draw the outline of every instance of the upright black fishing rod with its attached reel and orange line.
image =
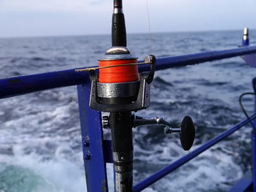
[[[138, 57], [127, 46], [125, 16], [122, 0], [113, 0], [112, 47], [98, 59], [99, 67], [87, 68], [90, 74], [90, 108], [109, 112], [102, 117], [103, 128], [111, 129], [115, 192], [133, 192], [133, 137], [132, 128], [142, 125], [166, 125], [164, 133], [179, 133], [184, 150], [195, 140], [195, 125], [185, 116], [180, 128], [171, 128], [162, 115], [137, 116], [137, 112], [150, 105], [150, 84], [154, 79], [156, 57], [147, 55], [144, 63], [150, 71], [138, 72]], [[99, 69], [99, 73], [95, 72]], [[83, 71], [77, 70], [77, 71]]]

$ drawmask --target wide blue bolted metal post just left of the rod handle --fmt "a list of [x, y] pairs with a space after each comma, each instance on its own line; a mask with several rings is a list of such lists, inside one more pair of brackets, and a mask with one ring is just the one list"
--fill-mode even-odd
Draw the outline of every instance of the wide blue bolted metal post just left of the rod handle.
[[108, 192], [101, 113], [89, 107], [91, 83], [77, 86], [87, 192]]

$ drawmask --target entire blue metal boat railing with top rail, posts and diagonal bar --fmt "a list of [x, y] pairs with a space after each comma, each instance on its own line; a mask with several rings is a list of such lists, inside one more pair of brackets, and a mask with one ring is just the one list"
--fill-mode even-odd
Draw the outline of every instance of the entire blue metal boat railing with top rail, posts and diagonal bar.
[[[214, 61], [256, 53], [256, 46], [248, 46], [248, 42], [243, 41], [243, 47], [235, 49], [225, 49], [219, 51], [200, 52], [189, 55], [157, 58], [156, 70], [164, 70], [172, 67], [183, 67], [186, 65], [194, 65], [207, 61]], [[144, 72], [148, 71], [150, 66], [140, 65], [138, 68], [139, 72]], [[0, 79], [0, 89], [2, 90], [0, 92], [0, 99], [58, 87], [78, 85], [77, 90], [87, 190], [89, 192], [107, 192], [108, 182], [106, 163], [113, 163], [111, 158], [112, 154], [111, 151], [109, 151], [109, 147], [111, 146], [110, 141], [103, 140], [101, 113], [94, 111], [89, 107], [91, 86], [89, 74], [87, 72], [77, 73], [75, 70], [76, 69], [61, 70]], [[253, 80], [254, 90], [256, 90], [255, 84], [256, 79]], [[92, 116], [93, 118], [91, 118]], [[239, 122], [233, 128], [224, 131], [224, 133], [208, 141], [201, 147], [195, 149], [191, 153], [180, 158], [166, 168], [138, 183], [134, 186], [134, 192], [139, 192], [150, 186], [152, 183], [156, 182], [160, 178], [182, 166], [184, 163], [201, 154], [212, 145], [215, 145], [225, 137], [228, 137], [230, 134], [237, 131], [239, 128], [253, 119], [256, 119], [256, 113], [250, 116], [250, 119], [245, 119]], [[254, 121], [254, 125], [256, 125], [256, 121]], [[256, 167], [256, 143], [254, 142], [254, 138], [256, 138], [256, 135], [252, 134], [253, 166]], [[253, 185], [256, 185], [256, 169], [253, 169]], [[256, 186], [254, 187], [254, 192], [256, 192]]]

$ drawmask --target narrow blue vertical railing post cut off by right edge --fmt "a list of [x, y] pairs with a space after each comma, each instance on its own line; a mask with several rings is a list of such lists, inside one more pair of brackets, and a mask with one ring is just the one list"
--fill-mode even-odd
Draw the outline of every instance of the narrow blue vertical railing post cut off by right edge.
[[[256, 78], [253, 79], [253, 91], [256, 93]], [[256, 112], [256, 96], [254, 102], [254, 112]], [[256, 119], [253, 120], [254, 127], [256, 126]], [[253, 192], [256, 192], [256, 129], [253, 128], [252, 134], [252, 166], [253, 166]]]

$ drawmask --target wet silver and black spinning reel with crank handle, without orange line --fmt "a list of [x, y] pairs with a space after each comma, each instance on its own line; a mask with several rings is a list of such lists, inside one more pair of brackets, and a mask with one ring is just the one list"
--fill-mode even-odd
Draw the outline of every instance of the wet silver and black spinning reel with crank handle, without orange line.
[[[116, 61], [137, 59], [126, 47], [111, 47], [99, 61]], [[149, 72], [140, 73], [140, 80], [125, 83], [100, 83], [99, 74], [89, 70], [92, 82], [90, 94], [90, 108], [103, 112], [131, 112], [146, 109], [150, 105], [150, 84], [154, 79], [156, 58], [148, 55], [143, 64], [150, 64]], [[140, 64], [140, 63], [137, 63]], [[133, 65], [133, 64], [127, 64]], [[123, 66], [123, 65], [120, 65]], [[116, 67], [116, 66], [114, 66]], [[142, 125], [166, 125], [165, 134], [179, 133], [180, 143], [188, 151], [195, 140], [195, 125], [190, 116], [185, 116], [180, 128], [171, 128], [171, 123], [162, 115], [157, 116], [131, 116], [133, 128]], [[103, 128], [110, 128], [109, 116], [102, 118]]]

